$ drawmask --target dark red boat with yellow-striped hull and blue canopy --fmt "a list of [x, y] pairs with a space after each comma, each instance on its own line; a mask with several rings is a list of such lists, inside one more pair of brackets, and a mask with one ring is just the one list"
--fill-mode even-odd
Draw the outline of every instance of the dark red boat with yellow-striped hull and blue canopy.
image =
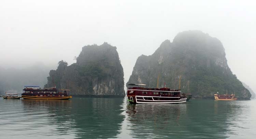
[[39, 88], [40, 86], [25, 86], [22, 93], [24, 99], [70, 99], [68, 91], [70, 90], [57, 90], [56, 87]]

